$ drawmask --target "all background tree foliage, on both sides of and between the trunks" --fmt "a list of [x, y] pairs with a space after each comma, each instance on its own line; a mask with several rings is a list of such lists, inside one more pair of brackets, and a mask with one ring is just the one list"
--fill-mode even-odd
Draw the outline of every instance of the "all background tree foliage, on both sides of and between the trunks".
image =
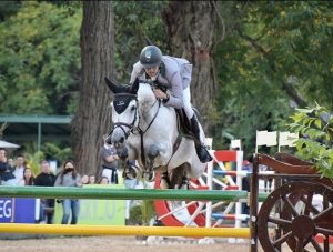
[[[141, 49], [169, 53], [162, 12], [168, 1], [112, 1], [117, 80], [125, 82]], [[214, 149], [223, 133], [254, 151], [255, 130], [284, 130], [293, 98], [333, 110], [333, 3], [216, 1], [220, 26], [212, 58], [220, 91], [210, 104]], [[222, 19], [223, 21], [222, 21]], [[0, 113], [72, 114], [80, 71], [79, 2], [0, 2]], [[222, 24], [225, 37], [222, 37]], [[222, 40], [223, 38], [223, 40]]]

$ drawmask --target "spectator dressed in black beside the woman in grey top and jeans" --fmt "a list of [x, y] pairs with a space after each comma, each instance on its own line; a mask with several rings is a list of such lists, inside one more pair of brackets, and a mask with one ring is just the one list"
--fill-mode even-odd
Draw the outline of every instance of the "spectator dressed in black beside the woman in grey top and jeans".
[[[34, 179], [34, 185], [38, 187], [53, 187], [56, 182], [56, 175], [50, 170], [50, 163], [48, 161], [41, 162], [41, 172]], [[40, 223], [47, 222], [53, 223], [54, 216], [54, 199], [41, 199], [40, 200]]]

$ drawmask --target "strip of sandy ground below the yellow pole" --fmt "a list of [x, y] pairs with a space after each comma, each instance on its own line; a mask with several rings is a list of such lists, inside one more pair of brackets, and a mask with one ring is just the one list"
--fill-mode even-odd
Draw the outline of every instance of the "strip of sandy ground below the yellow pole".
[[112, 252], [244, 252], [249, 243], [231, 244], [228, 240], [215, 240], [215, 244], [199, 244], [198, 241], [185, 239], [154, 239], [142, 241], [133, 236], [80, 236], [80, 238], [48, 238], [0, 240], [0, 251], [112, 251]]

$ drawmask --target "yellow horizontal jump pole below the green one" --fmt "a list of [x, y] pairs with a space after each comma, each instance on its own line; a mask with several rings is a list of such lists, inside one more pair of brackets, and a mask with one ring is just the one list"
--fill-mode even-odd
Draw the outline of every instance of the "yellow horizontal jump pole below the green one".
[[1, 223], [0, 233], [63, 234], [63, 235], [159, 235], [190, 238], [250, 238], [249, 228], [196, 228], [196, 226], [114, 226], [114, 225], [62, 225]]

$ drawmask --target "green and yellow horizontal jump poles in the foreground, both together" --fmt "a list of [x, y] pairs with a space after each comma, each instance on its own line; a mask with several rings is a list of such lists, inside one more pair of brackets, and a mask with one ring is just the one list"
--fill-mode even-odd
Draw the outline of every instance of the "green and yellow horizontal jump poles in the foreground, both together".
[[[47, 199], [108, 199], [108, 200], [196, 200], [248, 202], [246, 191], [221, 190], [147, 190], [100, 189], [64, 187], [0, 187], [0, 196]], [[266, 194], [260, 194], [263, 201]], [[250, 238], [249, 228], [194, 228], [194, 226], [114, 226], [1, 223], [0, 233], [42, 233], [71, 235], [160, 235]]]

